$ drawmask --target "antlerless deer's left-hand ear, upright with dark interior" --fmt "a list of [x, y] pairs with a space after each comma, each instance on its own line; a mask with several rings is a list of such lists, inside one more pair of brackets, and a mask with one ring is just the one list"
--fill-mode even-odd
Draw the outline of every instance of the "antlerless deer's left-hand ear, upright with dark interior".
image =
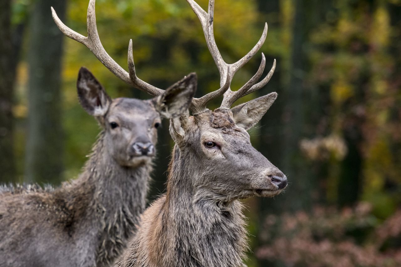
[[79, 70], [77, 90], [79, 103], [87, 113], [96, 117], [106, 114], [111, 98], [95, 76], [85, 67], [81, 67]]

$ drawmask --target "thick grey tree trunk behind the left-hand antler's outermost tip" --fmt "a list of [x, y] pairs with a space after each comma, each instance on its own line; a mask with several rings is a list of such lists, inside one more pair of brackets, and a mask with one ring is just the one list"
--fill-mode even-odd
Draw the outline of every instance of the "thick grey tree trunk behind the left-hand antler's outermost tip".
[[59, 184], [63, 171], [61, 56], [63, 34], [50, 7], [65, 16], [65, 0], [37, 0], [30, 15], [26, 181]]

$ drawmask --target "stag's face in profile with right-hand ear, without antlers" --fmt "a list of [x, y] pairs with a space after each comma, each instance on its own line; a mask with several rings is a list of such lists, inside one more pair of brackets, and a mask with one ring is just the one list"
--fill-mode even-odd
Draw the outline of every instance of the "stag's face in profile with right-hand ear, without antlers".
[[216, 109], [189, 117], [178, 146], [200, 174], [192, 181], [200, 195], [208, 192], [229, 201], [275, 196], [286, 188], [286, 176], [253, 148], [246, 131], [259, 121], [275, 97], [273, 93], [231, 110]]

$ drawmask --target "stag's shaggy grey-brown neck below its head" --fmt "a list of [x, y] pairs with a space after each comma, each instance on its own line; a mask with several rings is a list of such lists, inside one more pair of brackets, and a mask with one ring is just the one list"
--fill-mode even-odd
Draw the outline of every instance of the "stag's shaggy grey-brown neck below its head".
[[[189, 155], [174, 148], [166, 202], [162, 206], [166, 238], [174, 237], [179, 247], [174, 257], [186, 266], [243, 266], [247, 237], [242, 205], [234, 200], [223, 203], [194, 188], [196, 170], [190, 168]], [[217, 255], [219, 255], [217, 257]], [[174, 259], [172, 257], [172, 259]]]

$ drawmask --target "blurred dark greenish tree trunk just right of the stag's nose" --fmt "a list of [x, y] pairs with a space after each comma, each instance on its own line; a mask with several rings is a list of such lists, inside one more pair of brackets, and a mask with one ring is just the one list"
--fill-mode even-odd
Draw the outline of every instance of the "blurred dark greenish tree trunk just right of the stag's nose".
[[[292, 35], [292, 59], [290, 69], [290, 83], [285, 92], [285, 134], [284, 134], [284, 172], [289, 176], [292, 194], [284, 196], [286, 208], [291, 210], [306, 209], [310, 206], [310, 180], [303, 168], [302, 156], [300, 156], [299, 142], [302, 138], [302, 129], [305, 125], [304, 117], [304, 78], [307, 73], [307, 58], [304, 50], [308, 29], [306, 28], [306, 2], [308, 0], [296, 0], [294, 30]], [[296, 199], [295, 199], [296, 198]]]

